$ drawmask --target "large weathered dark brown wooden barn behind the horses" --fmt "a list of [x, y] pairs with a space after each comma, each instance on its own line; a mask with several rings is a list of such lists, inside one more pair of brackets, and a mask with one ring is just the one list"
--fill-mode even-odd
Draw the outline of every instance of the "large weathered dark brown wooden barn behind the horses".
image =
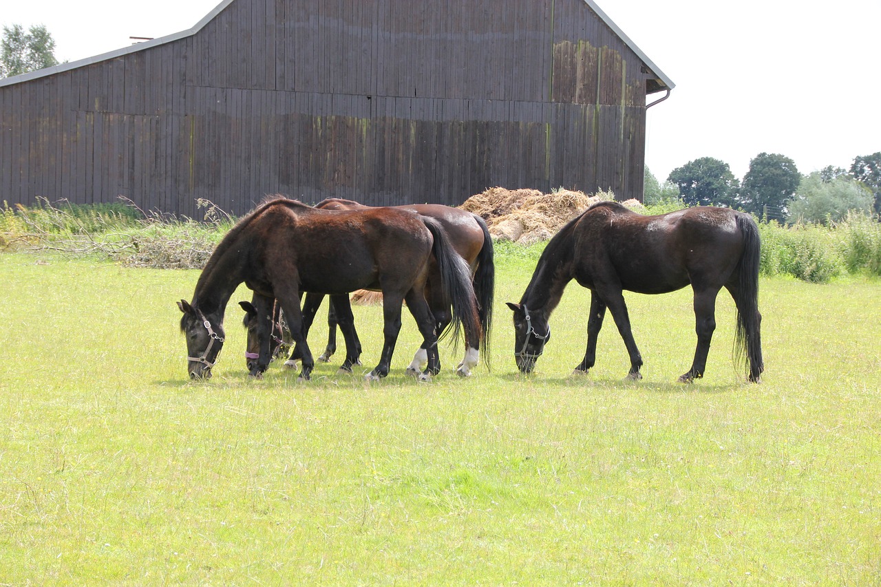
[[0, 79], [0, 199], [191, 217], [276, 192], [641, 199], [647, 96], [672, 87], [593, 0], [225, 0], [188, 31]]

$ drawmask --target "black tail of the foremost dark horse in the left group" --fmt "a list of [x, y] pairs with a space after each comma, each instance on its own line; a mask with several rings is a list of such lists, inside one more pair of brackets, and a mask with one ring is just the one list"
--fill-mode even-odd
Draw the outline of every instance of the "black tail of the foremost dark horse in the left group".
[[[453, 337], [458, 338], [462, 328], [465, 334], [475, 334], [479, 341], [483, 338], [478, 318], [478, 301], [471, 283], [470, 267], [462, 256], [459, 256], [449, 242], [447, 231], [441, 224], [426, 216], [420, 217], [433, 236], [432, 253], [441, 274], [441, 294], [445, 304], [453, 307], [450, 325]], [[438, 334], [441, 334], [440, 332]]]

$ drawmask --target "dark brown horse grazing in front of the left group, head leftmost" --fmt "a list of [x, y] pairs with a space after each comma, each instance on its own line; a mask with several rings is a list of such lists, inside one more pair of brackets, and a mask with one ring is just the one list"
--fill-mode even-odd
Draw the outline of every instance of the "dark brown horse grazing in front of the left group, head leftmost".
[[[280, 302], [292, 338], [303, 348], [302, 380], [310, 378], [315, 360], [303, 336], [300, 293], [340, 295], [362, 288], [380, 289], [384, 341], [380, 362], [367, 375], [380, 379], [389, 374], [403, 300], [423, 344], [433, 348], [437, 343], [424, 295], [432, 257], [441, 275], [441, 296], [453, 308], [455, 333], [463, 328], [467, 344], [478, 345], [482, 333], [468, 266], [436, 220], [388, 208], [329, 211], [285, 197], [270, 198], [218, 243], [196, 282], [192, 301], [177, 303], [183, 314], [189, 375], [194, 379], [211, 376], [225, 340], [226, 304], [236, 287], [245, 283], [256, 294]], [[260, 338], [260, 358], [252, 375], [262, 373], [270, 360], [270, 337], [260, 332]], [[430, 379], [439, 370], [430, 354], [420, 377]]]

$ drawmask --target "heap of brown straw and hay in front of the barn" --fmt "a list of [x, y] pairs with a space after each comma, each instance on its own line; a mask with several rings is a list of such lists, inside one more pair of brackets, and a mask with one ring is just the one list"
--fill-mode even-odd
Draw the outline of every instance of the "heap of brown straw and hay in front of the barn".
[[492, 238], [530, 245], [550, 239], [590, 204], [614, 197], [611, 191], [588, 196], [567, 189], [543, 194], [537, 189], [490, 188], [468, 198], [459, 207], [485, 219]]

